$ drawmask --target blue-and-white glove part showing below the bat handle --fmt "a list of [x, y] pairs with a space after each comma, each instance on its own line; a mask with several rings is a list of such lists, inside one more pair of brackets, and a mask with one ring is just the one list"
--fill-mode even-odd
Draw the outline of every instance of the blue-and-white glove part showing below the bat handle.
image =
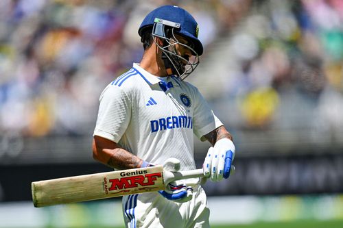
[[168, 183], [167, 189], [158, 191], [158, 193], [165, 197], [165, 199], [169, 199], [176, 203], [185, 203], [192, 199], [193, 188], [185, 184], [174, 186], [174, 184]]

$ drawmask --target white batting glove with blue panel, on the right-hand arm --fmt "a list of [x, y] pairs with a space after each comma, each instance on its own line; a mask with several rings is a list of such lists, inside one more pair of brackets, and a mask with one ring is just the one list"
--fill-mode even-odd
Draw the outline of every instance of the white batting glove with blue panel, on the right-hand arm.
[[235, 144], [228, 138], [222, 138], [210, 147], [202, 169], [204, 176], [211, 181], [222, 181], [230, 177], [231, 164], [235, 158]]

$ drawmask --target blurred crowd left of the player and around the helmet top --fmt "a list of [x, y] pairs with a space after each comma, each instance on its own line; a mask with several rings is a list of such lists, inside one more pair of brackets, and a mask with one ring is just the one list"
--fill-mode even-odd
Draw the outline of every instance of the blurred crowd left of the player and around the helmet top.
[[[182, 1], [1, 1], [0, 129], [24, 136], [85, 134], [99, 94], [141, 58], [137, 21]], [[221, 1], [187, 1], [213, 41]], [[207, 12], [209, 7], [211, 12]], [[206, 27], [206, 29], [205, 29]], [[128, 42], [128, 40], [130, 42]], [[135, 42], [132, 42], [135, 40]], [[135, 43], [136, 45], [128, 45]]]

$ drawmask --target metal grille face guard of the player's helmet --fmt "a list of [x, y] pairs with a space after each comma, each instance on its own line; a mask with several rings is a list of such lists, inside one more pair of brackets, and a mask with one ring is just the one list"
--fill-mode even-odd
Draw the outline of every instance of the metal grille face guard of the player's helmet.
[[[152, 37], [156, 46], [162, 51], [162, 59], [165, 62], [165, 68], [171, 68], [172, 74], [176, 75], [181, 81], [188, 75], [193, 73], [199, 64], [199, 55], [194, 50], [194, 45], [187, 37], [178, 34], [180, 23], [163, 20], [160, 18], [154, 19], [152, 27]], [[185, 37], [189, 41], [189, 45], [185, 45], [176, 38], [176, 34]], [[158, 45], [155, 38], [163, 39], [163, 46]], [[193, 54], [189, 60], [188, 56], [182, 56], [178, 53], [176, 47], [182, 46], [191, 51]]]

